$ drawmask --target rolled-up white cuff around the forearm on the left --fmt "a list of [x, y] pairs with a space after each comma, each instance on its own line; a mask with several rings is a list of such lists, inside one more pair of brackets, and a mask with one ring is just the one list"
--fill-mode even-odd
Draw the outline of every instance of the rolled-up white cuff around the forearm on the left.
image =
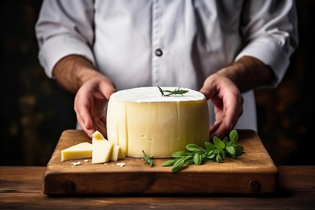
[[84, 41], [69, 35], [54, 36], [44, 42], [38, 59], [49, 78], [54, 78], [52, 70], [55, 64], [67, 55], [81, 55], [95, 65], [93, 53]]

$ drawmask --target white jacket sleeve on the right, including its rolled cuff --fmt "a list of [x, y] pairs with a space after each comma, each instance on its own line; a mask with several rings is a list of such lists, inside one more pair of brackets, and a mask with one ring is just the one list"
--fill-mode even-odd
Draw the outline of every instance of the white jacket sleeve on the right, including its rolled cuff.
[[271, 67], [275, 76], [269, 87], [276, 87], [298, 45], [295, 1], [245, 1], [241, 33], [245, 46], [235, 60], [244, 55], [260, 59]]

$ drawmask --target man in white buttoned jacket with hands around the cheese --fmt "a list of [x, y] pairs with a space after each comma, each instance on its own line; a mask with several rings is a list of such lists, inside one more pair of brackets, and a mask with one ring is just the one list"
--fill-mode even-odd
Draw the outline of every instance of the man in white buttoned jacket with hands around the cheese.
[[211, 139], [257, 130], [253, 89], [276, 87], [298, 44], [293, 0], [44, 0], [36, 36], [88, 135], [115, 91], [172, 86], [206, 96]]

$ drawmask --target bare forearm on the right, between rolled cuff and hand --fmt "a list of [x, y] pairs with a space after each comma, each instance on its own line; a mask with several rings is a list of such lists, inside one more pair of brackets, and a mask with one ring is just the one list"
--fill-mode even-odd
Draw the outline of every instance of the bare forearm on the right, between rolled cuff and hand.
[[217, 74], [233, 81], [241, 92], [267, 85], [274, 77], [268, 65], [251, 56], [241, 57], [231, 65], [220, 69]]

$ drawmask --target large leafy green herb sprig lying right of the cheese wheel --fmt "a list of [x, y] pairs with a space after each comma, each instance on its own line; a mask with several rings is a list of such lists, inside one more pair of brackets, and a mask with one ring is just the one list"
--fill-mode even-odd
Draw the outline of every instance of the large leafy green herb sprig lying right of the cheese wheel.
[[222, 161], [229, 156], [231, 158], [236, 158], [236, 156], [240, 156], [244, 147], [240, 144], [237, 144], [238, 140], [238, 132], [236, 130], [232, 130], [229, 133], [229, 139], [226, 136], [223, 141], [218, 137], [213, 137], [213, 144], [209, 142], [205, 142], [205, 148], [203, 149], [195, 144], [189, 144], [186, 146], [187, 150], [191, 152], [179, 151], [172, 154], [175, 160], [165, 161], [162, 166], [172, 166], [172, 172], [177, 172], [181, 170], [184, 165], [201, 165], [203, 162], [217, 162], [222, 163]]

